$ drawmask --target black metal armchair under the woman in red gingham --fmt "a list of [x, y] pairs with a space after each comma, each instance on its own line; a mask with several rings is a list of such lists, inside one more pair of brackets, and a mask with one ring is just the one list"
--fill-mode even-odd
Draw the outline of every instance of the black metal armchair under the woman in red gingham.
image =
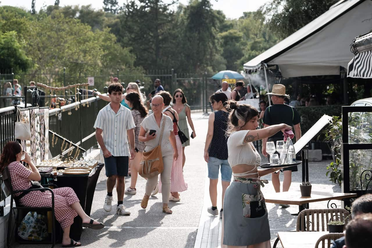
[[[8, 232], [7, 232], [7, 247], [11, 247], [11, 238], [12, 238], [12, 232], [14, 232], [15, 237], [17, 239], [17, 242], [20, 244], [52, 244], [52, 248], [55, 245], [55, 216], [54, 216], [54, 193], [50, 188], [33, 188], [28, 190], [13, 190], [12, 182], [10, 179], [10, 173], [9, 168], [6, 166], [4, 168], [4, 171], [1, 173], [3, 176], [3, 181], [5, 186], [8, 188], [10, 192], [10, 210], [9, 210], [9, 220], [8, 220]], [[57, 188], [57, 185], [55, 184], [44, 184], [43, 187], [53, 186]], [[18, 198], [15, 196], [17, 193], [23, 193], [23, 192], [31, 192], [31, 191], [42, 191], [45, 192], [46, 190], [50, 191], [52, 194], [52, 206], [51, 207], [26, 207], [22, 206], [19, 203]], [[13, 206], [13, 200], [15, 201], [15, 206]], [[48, 241], [31, 241], [31, 240], [24, 240], [18, 238], [18, 226], [20, 222], [22, 222], [23, 217], [28, 212], [51, 212], [51, 218], [52, 218], [52, 233], [51, 233], [51, 239]], [[12, 227], [12, 218], [15, 218], [14, 226]]]

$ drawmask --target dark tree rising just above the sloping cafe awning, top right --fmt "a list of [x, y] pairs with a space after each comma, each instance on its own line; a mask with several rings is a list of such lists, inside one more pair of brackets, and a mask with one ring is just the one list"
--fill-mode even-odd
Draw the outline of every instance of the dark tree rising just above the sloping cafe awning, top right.
[[260, 10], [270, 30], [283, 39], [296, 32], [339, 0], [272, 0]]

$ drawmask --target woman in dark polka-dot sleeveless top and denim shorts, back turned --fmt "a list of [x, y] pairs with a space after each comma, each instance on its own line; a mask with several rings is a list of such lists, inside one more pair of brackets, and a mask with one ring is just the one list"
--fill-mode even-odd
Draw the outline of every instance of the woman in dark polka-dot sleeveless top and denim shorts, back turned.
[[229, 112], [226, 108], [227, 96], [223, 92], [214, 93], [209, 97], [212, 103], [212, 108], [216, 112], [212, 112], [208, 119], [208, 133], [205, 139], [204, 160], [208, 163], [209, 177], [209, 197], [211, 197], [212, 206], [208, 207], [208, 213], [218, 215], [217, 209], [217, 183], [218, 171], [221, 168], [222, 178], [222, 204], [220, 210], [220, 218], [224, 207], [224, 195], [226, 188], [231, 181], [231, 168], [227, 161], [227, 136]]

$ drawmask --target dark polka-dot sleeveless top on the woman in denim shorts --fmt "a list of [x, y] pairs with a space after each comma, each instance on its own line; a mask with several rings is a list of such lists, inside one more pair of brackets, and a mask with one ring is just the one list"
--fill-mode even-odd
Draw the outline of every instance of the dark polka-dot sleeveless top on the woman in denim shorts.
[[227, 137], [225, 136], [228, 124], [229, 112], [219, 110], [214, 113], [213, 137], [209, 145], [209, 156], [226, 160], [227, 153]]

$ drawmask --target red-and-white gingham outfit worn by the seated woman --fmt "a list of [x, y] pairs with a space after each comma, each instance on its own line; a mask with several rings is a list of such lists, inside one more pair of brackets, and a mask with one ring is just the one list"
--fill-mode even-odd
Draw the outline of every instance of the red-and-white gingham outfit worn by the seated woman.
[[[31, 187], [28, 178], [32, 171], [23, 166], [20, 162], [12, 162], [8, 165], [13, 190], [27, 190]], [[55, 219], [60, 223], [62, 229], [71, 226], [77, 216], [75, 210], [70, 206], [79, 201], [74, 190], [69, 187], [55, 188], [54, 193], [54, 214]], [[20, 194], [20, 193], [19, 193]], [[18, 194], [18, 195], [19, 195]], [[20, 204], [29, 207], [51, 207], [52, 194], [50, 191], [32, 191], [22, 197]]]

